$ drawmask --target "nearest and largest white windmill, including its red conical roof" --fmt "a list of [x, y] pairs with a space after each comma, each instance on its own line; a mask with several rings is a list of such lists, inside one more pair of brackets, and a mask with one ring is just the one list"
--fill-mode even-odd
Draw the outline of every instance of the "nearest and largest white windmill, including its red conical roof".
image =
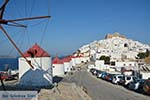
[[23, 57], [19, 57], [19, 84], [29, 87], [51, 85], [51, 56], [38, 44], [33, 45], [23, 55], [34, 68]]

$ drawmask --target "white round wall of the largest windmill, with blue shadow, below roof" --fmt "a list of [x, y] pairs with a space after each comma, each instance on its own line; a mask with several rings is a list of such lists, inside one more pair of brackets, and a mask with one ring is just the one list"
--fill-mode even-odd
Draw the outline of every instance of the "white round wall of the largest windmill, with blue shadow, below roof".
[[34, 69], [24, 58], [19, 58], [19, 81], [25, 86], [48, 86], [52, 84], [51, 57], [27, 57]]

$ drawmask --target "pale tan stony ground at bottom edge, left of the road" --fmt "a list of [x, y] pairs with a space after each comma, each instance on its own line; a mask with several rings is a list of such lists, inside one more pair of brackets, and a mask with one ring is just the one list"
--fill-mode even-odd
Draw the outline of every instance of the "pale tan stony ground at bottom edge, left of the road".
[[52, 90], [42, 89], [38, 100], [92, 100], [83, 89], [75, 83], [61, 82]]

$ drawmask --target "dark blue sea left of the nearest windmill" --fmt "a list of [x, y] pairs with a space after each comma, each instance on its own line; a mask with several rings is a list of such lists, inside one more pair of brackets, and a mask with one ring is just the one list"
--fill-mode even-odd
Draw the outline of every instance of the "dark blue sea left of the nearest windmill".
[[0, 58], [0, 71], [18, 69], [18, 58]]

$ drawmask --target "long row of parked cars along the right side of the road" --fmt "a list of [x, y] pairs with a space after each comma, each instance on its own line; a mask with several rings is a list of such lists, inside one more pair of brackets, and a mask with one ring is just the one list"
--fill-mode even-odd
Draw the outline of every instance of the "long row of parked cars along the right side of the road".
[[113, 85], [122, 86], [123, 88], [136, 93], [150, 95], [150, 79], [141, 79], [139, 77], [127, 76], [123, 74], [112, 74], [93, 68], [88, 71], [97, 79], [107, 81]]

